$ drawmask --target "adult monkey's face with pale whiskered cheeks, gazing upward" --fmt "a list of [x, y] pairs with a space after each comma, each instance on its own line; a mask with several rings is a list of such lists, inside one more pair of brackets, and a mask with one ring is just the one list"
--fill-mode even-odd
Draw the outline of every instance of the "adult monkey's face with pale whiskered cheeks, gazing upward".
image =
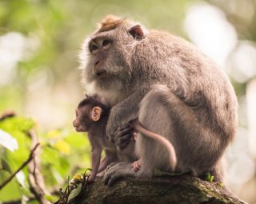
[[82, 52], [83, 77], [86, 83], [94, 82], [99, 88], [118, 88], [121, 81], [130, 78], [128, 59], [122, 51], [123, 45], [116, 37], [94, 35]]

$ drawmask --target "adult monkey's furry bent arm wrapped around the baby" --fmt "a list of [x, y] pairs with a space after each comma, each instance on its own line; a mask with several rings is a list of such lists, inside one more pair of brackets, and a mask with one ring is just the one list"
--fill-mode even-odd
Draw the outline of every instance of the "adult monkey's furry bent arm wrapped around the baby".
[[[110, 112], [110, 117], [106, 126], [106, 134], [114, 142], [122, 136], [126, 136], [129, 140], [133, 135], [133, 129], [130, 128], [128, 122], [138, 117], [139, 104], [142, 98], [150, 91], [150, 85], [139, 88], [125, 100], [116, 104]], [[122, 128], [123, 126], [126, 126]], [[119, 128], [119, 129], [118, 129]], [[114, 136], [117, 137], [114, 138]]]

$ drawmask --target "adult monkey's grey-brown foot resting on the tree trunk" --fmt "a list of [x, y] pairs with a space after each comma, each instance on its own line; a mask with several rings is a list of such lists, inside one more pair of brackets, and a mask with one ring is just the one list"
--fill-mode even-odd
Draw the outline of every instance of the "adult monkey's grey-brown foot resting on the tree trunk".
[[135, 172], [131, 166], [131, 163], [117, 163], [113, 167], [106, 170], [103, 176], [103, 181], [105, 185], [111, 186], [117, 179], [125, 177], [136, 177], [137, 172]]

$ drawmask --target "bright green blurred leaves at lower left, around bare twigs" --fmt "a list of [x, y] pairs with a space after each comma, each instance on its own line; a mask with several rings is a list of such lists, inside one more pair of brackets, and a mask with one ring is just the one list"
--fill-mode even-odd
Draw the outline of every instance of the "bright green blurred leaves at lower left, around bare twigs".
[[[18, 142], [18, 149], [10, 151], [0, 148], [0, 183], [10, 177], [26, 161], [30, 155], [31, 138], [28, 134], [36, 129], [33, 120], [13, 117], [0, 121], [0, 129], [9, 133]], [[42, 146], [40, 155], [42, 175], [50, 190], [56, 190], [66, 181], [67, 176], [75, 172], [83, 172], [90, 167], [89, 143], [84, 134], [74, 131], [49, 131], [46, 135], [39, 135]], [[32, 197], [28, 185], [28, 170], [22, 172], [26, 176], [26, 185], [19, 185], [15, 178], [0, 190], [0, 201], [18, 200], [22, 195]], [[56, 189], [54, 189], [54, 186]]]

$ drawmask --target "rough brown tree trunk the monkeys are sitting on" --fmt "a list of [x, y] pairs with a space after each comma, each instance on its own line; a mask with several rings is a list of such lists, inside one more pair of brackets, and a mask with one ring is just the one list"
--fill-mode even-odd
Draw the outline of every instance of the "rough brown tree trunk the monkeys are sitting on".
[[246, 203], [218, 182], [206, 182], [189, 175], [122, 179], [107, 187], [96, 179], [79, 198], [83, 204], [134, 203]]

